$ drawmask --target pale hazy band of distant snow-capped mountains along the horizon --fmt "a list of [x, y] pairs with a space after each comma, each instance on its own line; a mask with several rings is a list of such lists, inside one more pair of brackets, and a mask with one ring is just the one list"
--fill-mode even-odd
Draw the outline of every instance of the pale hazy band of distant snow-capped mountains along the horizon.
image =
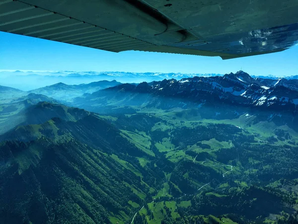
[[[0, 85], [17, 88], [23, 91], [42, 88], [57, 83], [68, 85], [79, 85], [82, 83], [98, 82], [102, 80], [117, 80], [121, 83], [141, 83], [162, 81], [164, 79], [176, 79], [193, 77], [214, 77], [224, 74], [184, 74], [184, 73], [133, 73], [133, 72], [74, 72], [74, 71], [0, 71]], [[281, 75], [279, 77], [254, 76], [253, 78], [263, 79], [298, 79], [298, 76]]]

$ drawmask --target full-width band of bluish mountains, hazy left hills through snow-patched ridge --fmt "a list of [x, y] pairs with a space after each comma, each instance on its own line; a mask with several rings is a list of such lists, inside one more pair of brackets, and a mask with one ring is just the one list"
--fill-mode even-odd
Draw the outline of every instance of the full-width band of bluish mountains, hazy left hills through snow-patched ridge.
[[[99, 81], [81, 85], [57, 83], [29, 92], [6, 87], [1, 87], [1, 90], [1, 96], [6, 94], [8, 98], [0, 101], [2, 116], [5, 112], [19, 112], [25, 107], [20, 105], [28, 104], [27, 100], [33, 98], [34, 103], [38, 99], [40, 102], [55, 101], [101, 113], [134, 113], [136, 107], [162, 110], [206, 107], [217, 108], [210, 116], [229, 114], [229, 117], [238, 117], [249, 109], [250, 113], [267, 110], [271, 112], [268, 119], [282, 119], [281, 112], [297, 113], [298, 109], [298, 80], [253, 78], [243, 71], [224, 76], [164, 79], [141, 84]], [[23, 96], [11, 98], [18, 95]], [[233, 113], [223, 113], [226, 105], [236, 107]], [[12, 126], [9, 124], [9, 127]]]

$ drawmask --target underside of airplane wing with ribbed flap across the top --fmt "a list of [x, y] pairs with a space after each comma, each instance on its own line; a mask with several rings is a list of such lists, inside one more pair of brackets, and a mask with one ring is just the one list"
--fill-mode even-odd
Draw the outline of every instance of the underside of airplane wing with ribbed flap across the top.
[[296, 45], [298, 0], [0, 0], [0, 31], [230, 59]]

